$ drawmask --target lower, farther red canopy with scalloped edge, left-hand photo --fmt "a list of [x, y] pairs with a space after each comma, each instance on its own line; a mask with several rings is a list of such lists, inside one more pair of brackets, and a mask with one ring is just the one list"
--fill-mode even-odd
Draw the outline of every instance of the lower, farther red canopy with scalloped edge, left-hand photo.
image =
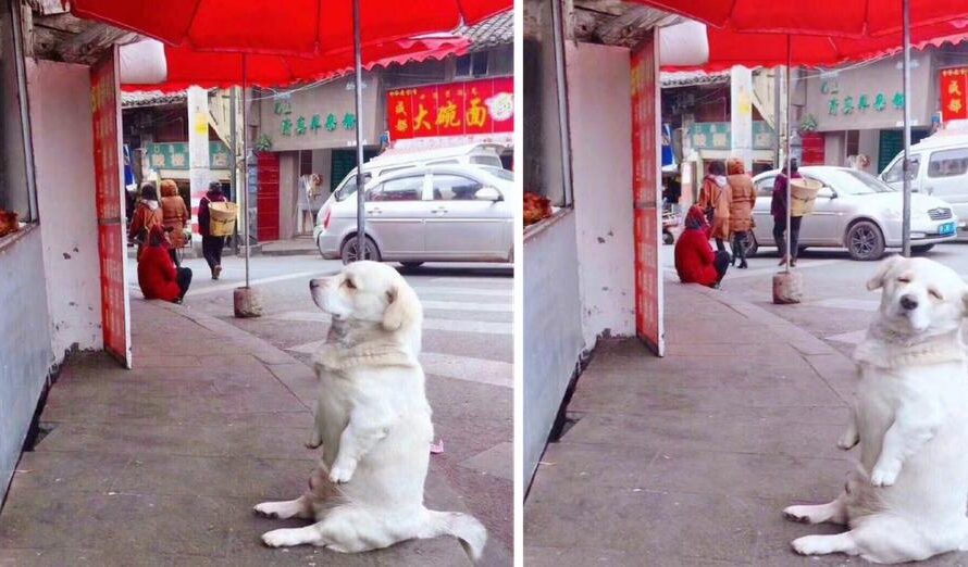
[[[363, 67], [386, 66], [392, 63], [440, 60], [467, 52], [466, 38], [409, 39], [370, 46], [363, 50]], [[243, 55], [165, 46], [167, 80], [162, 85], [124, 85], [124, 90], [184, 90], [189, 86], [225, 88], [241, 85]], [[318, 58], [247, 54], [246, 83], [259, 87], [285, 87], [296, 83], [326, 79], [349, 72], [353, 52]]]

